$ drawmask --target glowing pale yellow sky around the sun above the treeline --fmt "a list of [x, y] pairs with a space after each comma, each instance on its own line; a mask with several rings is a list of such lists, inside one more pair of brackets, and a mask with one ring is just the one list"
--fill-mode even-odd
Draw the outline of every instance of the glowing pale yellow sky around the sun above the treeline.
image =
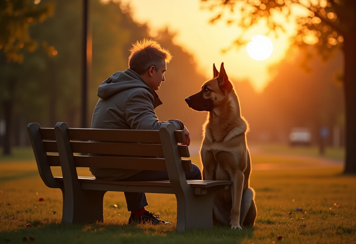
[[[226, 26], [225, 21], [209, 24], [213, 13], [201, 10], [200, 0], [122, 0], [123, 5], [130, 4], [132, 17], [138, 23], [146, 23], [152, 36], [165, 29], [176, 32], [173, 42], [191, 54], [198, 63], [198, 68], [206, 77], [210, 77], [213, 63], [220, 67], [224, 62], [225, 70], [231, 80], [248, 79], [256, 91], [262, 91], [271, 80], [268, 67], [280, 62], [289, 47], [288, 38], [295, 27], [286, 26], [288, 33], [281, 33], [278, 39], [274, 35], [266, 35], [264, 23], [245, 31], [244, 38], [250, 40], [255, 35], [265, 35], [273, 44], [272, 55], [263, 61], [253, 60], [248, 56], [246, 46], [232, 49], [226, 54], [221, 50], [228, 47], [242, 33], [236, 26]], [[173, 54], [174, 56], [174, 54]], [[167, 66], [169, 72], [169, 65]], [[203, 81], [202, 81], [203, 82]]]

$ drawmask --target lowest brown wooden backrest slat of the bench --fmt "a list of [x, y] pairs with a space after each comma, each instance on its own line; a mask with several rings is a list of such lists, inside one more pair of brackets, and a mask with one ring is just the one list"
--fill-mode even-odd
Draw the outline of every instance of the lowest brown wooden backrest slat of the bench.
[[[50, 166], [61, 166], [58, 155], [48, 155]], [[75, 167], [100, 167], [112, 169], [142, 169], [167, 171], [164, 158], [133, 158], [133, 157], [103, 157], [103, 156], [74, 156]], [[192, 162], [182, 159], [184, 171], [192, 172]]]

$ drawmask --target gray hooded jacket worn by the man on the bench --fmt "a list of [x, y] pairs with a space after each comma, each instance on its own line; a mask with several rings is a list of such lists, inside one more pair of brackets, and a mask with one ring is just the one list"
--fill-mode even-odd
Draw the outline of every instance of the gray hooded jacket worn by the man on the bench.
[[[179, 120], [160, 122], [155, 108], [162, 104], [157, 93], [135, 71], [117, 71], [98, 88], [99, 101], [94, 108], [91, 128], [96, 129], [159, 129], [171, 123], [177, 130], [184, 124]], [[90, 168], [97, 178], [115, 174], [125, 179], [140, 171], [124, 169]]]

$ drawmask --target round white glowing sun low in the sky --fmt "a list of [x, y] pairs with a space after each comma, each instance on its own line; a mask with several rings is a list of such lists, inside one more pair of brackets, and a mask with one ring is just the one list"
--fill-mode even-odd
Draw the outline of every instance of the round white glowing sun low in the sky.
[[273, 45], [271, 40], [266, 36], [254, 36], [251, 38], [251, 42], [247, 44], [247, 53], [254, 60], [265, 60], [271, 56], [273, 51]]

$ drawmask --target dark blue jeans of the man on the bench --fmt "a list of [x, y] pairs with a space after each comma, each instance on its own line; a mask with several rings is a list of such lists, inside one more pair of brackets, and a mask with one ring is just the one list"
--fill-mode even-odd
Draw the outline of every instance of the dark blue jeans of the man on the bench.
[[[193, 172], [185, 172], [187, 180], [201, 180], [201, 172], [198, 166], [192, 164]], [[167, 171], [144, 170], [138, 174], [122, 179], [121, 181], [164, 181], [168, 180]], [[146, 194], [143, 192], [124, 192], [127, 210], [133, 211], [148, 205]]]

